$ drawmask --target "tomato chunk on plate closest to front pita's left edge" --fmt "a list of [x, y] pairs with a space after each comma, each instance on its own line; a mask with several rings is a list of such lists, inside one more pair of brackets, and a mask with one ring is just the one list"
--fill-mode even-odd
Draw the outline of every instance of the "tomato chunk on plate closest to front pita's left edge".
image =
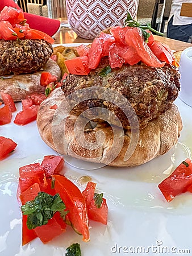
[[32, 121], [35, 121], [37, 118], [37, 111], [39, 106], [32, 105], [28, 109], [24, 109], [16, 114], [14, 123], [16, 125], [27, 125]]

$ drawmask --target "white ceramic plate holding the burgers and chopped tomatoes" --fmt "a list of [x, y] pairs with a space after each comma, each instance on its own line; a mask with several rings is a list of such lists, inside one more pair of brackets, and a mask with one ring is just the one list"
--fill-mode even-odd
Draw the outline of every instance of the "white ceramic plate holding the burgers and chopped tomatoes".
[[[41, 140], [36, 122], [26, 126], [11, 122], [0, 127], [1, 136], [18, 143], [15, 152], [0, 163], [0, 255], [61, 256], [74, 242], [81, 244], [83, 256], [137, 255], [136, 251], [138, 255], [167, 255], [168, 251], [169, 255], [192, 253], [192, 195], [186, 193], [167, 203], [157, 187], [182, 160], [191, 158], [192, 108], [179, 98], [176, 104], [183, 120], [177, 146], [143, 166], [97, 169], [97, 164], [65, 158], [69, 179], [78, 184], [81, 176], [90, 176], [107, 199], [108, 224], [91, 221], [91, 241], [88, 243], [82, 242], [82, 237], [68, 227], [64, 234], [47, 245], [37, 238], [22, 247], [21, 214], [16, 200], [18, 168], [40, 162], [44, 155], [56, 152]], [[21, 104], [16, 104], [16, 108], [21, 110]], [[77, 165], [80, 168], [74, 167]], [[90, 170], [93, 166], [96, 169]]]

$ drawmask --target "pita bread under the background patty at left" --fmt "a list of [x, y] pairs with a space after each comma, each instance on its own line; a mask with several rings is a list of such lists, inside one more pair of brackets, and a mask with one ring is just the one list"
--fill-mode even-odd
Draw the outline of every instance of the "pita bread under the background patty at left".
[[[26, 75], [14, 75], [11, 78], [0, 79], [0, 92], [9, 93], [15, 102], [23, 100], [27, 95], [34, 92], [43, 93], [45, 88], [40, 85], [40, 77], [41, 73], [44, 71], [50, 72], [60, 79], [61, 71], [59, 65], [52, 59], [49, 59], [39, 72]], [[10, 76], [8, 75], [7, 77]], [[1, 94], [0, 101], [2, 101]]]

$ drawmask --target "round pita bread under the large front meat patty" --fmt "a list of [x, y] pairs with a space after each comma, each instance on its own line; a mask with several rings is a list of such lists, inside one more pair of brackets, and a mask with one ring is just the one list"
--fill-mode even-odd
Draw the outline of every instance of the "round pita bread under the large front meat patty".
[[[62, 105], [60, 105], [62, 102]], [[51, 106], [57, 105], [57, 110], [50, 109]], [[70, 155], [74, 158], [86, 160], [95, 163], [107, 163], [115, 167], [138, 166], [152, 160], [158, 155], [165, 154], [177, 143], [180, 131], [182, 130], [182, 121], [177, 106], [167, 110], [156, 119], [148, 122], [148, 125], [140, 130], [139, 140], [132, 156], [124, 160], [125, 153], [131, 141], [131, 131], [123, 130], [117, 127], [114, 139], [114, 133], [111, 126], [107, 123], [97, 123], [91, 127], [87, 123], [84, 135], [88, 142], [95, 143], [102, 138], [98, 131], [105, 134], [105, 140], [102, 146], [91, 149], [89, 143], [84, 147], [78, 143], [74, 133], [74, 123], [77, 122], [77, 116], [69, 114], [68, 106], [65, 101], [64, 93], [60, 88], [54, 90], [51, 96], [40, 105], [37, 114], [37, 127], [43, 141], [60, 154]], [[81, 130], [85, 120], [80, 119], [77, 125], [77, 131]], [[98, 135], [96, 139], [96, 134]], [[112, 150], [112, 145], [115, 147]], [[122, 146], [123, 145], [123, 146]], [[113, 154], [116, 154], [118, 148], [120, 152], [112, 162]]]

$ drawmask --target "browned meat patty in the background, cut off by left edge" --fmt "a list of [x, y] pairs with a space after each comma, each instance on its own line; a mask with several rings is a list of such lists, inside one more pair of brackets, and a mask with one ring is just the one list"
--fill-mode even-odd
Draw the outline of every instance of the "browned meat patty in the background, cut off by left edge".
[[45, 40], [0, 40], [0, 75], [39, 71], [53, 52]]

